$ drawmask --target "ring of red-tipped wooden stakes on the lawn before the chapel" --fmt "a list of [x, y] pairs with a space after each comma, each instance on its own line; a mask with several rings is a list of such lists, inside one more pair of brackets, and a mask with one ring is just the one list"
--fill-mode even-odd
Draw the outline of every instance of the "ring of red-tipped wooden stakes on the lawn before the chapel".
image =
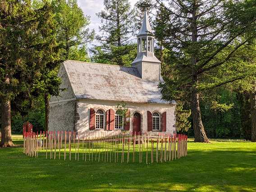
[[24, 133], [23, 153], [53, 160], [162, 163], [187, 156], [187, 136], [89, 132], [79, 137], [71, 131]]

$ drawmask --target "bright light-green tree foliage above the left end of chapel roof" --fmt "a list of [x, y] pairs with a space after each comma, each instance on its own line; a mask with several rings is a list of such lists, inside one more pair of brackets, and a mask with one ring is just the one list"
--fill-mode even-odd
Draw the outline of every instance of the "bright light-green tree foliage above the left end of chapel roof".
[[94, 30], [87, 27], [90, 17], [83, 14], [77, 0], [52, 0], [58, 26], [57, 40], [64, 51], [64, 60], [87, 57], [87, 43], [94, 37]]

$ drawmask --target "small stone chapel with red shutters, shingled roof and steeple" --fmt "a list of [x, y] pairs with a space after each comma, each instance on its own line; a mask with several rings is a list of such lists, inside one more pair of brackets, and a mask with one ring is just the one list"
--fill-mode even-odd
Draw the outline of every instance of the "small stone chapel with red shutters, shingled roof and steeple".
[[[161, 62], [154, 46], [145, 12], [131, 67], [64, 61], [58, 73], [60, 95], [50, 98], [49, 131], [176, 133], [176, 103], [162, 99]], [[116, 112], [122, 102], [128, 109], [124, 117]]]

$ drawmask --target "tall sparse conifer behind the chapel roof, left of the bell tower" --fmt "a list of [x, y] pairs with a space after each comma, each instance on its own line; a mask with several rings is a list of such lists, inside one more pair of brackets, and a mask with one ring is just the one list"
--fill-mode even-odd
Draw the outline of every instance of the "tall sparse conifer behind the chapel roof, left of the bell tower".
[[128, 0], [104, 0], [105, 9], [97, 14], [101, 18], [101, 43], [91, 49], [94, 61], [129, 66], [137, 54], [133, 43], [135, 13]]

